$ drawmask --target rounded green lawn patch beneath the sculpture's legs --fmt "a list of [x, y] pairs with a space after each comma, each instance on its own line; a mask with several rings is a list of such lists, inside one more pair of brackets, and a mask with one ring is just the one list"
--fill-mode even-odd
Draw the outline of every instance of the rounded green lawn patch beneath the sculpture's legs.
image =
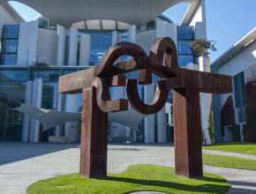
[[173, 168], [154, 165], [132, 165], [124, 173], [106, 178], [87, 179], [79, 174], [60, 175], [30, 185], [26, 193], [121, 194], [136, 190], [166, 193], [225, 193], [230, 184], [218, 175], [204, 173], [200, 179], [175, 176]]

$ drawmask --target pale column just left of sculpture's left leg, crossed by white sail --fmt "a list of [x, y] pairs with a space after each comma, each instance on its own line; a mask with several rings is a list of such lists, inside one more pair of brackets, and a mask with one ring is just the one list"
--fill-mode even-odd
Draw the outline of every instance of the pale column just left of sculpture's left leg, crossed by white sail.
[[[66, 112], [78, 112], [79, 105], [79, 95], [78, 94], [67, 94], [65, 96], [65, 111]], [[77, 132], [78, 132], [78, 122], [72, 121], [65, 123], [65, 137], [69, 139], [70, 142], [77, 141]]]

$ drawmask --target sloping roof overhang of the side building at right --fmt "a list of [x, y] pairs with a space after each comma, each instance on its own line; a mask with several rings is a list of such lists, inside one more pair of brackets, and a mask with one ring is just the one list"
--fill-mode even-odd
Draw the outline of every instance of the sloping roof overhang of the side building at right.
[[246, 34], [241, 40], [237, 41], [231, 48], [218, 57], [215, 62], [211, 64], [211, 68], [218, 69], [223, 64], [229, 62], [233, 57], [237, 56], [240, 52], [245, 50], [253, 42], [256, 41], [256, 27]]

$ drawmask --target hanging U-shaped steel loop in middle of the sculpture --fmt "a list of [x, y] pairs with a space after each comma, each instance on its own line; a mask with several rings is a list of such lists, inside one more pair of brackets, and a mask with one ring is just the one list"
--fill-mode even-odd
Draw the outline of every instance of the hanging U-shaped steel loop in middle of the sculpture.
[[160, 90], [157, 86], [154, 94], [154, 100], [151, 102], [151, 104], [145, 104], [139, 98], [136, 79], [127, 80], [126, 92], [132, 108], [142, 114], [154, 114], [160, 111], [167, 101], [169, 94], [169, 90]]

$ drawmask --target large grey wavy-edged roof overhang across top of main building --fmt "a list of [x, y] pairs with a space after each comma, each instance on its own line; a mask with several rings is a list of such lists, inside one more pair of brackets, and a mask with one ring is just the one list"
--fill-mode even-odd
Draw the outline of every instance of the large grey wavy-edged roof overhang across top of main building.
[[[72, 24], [93, 19], [107, 19], [142, 26], [154, 20], [163, 11], [182, 2], [191, 3], [187, 17], [200, 0], [17, 0], [40, 12], [57, 24]], [[7, 6], [8, 0], [0, 0]]]

